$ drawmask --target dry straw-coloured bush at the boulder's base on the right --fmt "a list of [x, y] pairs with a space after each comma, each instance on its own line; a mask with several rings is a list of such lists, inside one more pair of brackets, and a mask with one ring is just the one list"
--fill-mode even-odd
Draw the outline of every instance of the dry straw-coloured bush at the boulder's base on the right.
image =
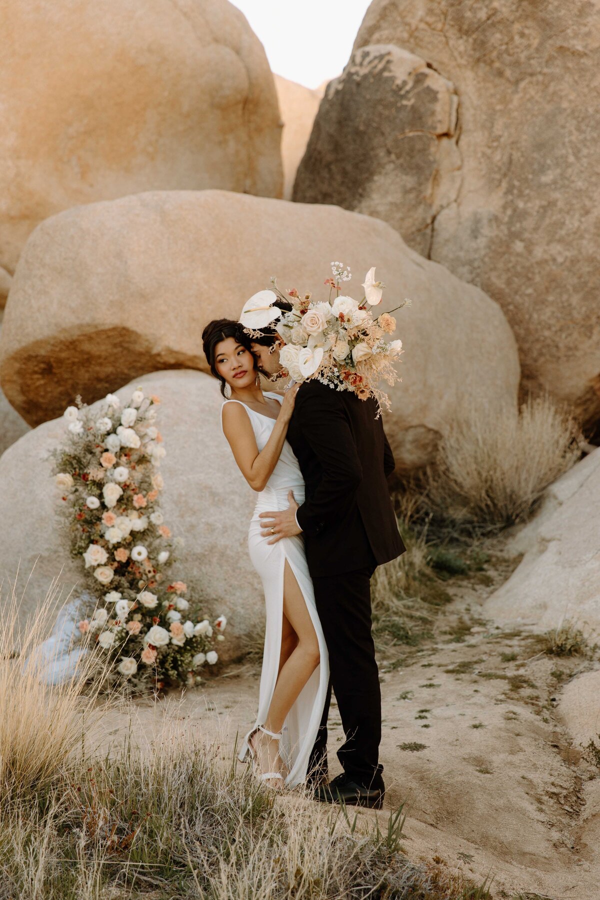
[[420, 482], [422, 512], [459, 528], [513, 525], [577, 462], [581, 444], [577, 422], [548, 397], [524, 403], [518, 413], [473, 408], [443, 439]]

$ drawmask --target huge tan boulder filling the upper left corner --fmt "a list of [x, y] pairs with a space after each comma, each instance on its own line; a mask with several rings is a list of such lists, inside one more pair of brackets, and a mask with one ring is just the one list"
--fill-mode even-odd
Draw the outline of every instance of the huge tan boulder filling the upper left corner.
[[78, 203], [281, 196], [273, 76], [228, 0], [0, 0], [0, 31], [0, 303], [31, 230]]

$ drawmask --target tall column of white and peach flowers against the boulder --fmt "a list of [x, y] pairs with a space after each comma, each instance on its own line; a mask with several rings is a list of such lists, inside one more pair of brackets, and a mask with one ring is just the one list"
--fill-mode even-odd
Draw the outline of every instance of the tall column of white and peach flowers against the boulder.
[[124, 407], [108, 394], [100, 411], [77, 397], [64, 413], [66, 441], [52, 454], [71, 555], [94, 598], [76, 634], [103, 654], [109, 687], [122, 680], [133, 690], [193, 687], [225, 640], [227, 619], [200, 616], [184, 581], [167, 577], [176, 553], [158, 502], [166, 455], [159, 403], [141, 388]]

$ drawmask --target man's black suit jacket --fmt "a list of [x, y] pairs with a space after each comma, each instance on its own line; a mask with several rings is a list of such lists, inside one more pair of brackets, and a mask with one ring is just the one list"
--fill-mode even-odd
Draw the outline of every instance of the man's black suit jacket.
[[287, 439], [306, 483], [298, 509], [310, 574], [352, 572], [404, 553], [387, 478], [394, 456], [377, 403], [309, 381]]

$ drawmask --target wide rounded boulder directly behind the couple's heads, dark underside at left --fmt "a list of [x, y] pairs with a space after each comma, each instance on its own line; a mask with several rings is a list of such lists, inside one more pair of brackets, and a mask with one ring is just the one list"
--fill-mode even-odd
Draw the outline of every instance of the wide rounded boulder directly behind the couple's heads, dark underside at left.
[[219, 191], [136, 194], [42, 222], [4, 313], [3, 390], [37, 425], [77, 393], [91, 402], [148, 371], [207, 371], [201, 332], [209, 320], [237, 320], [271, 275], [283, 290], [327, 300], [323, 282], [340, 257], [354, 273], [351, 295], [360, 299], [375, 265], [389, 285], [381, 311], [413, 302], [398, 316], [406, 352], [386, 413], [399, 465], [431, 458], [465, 397], [490, 410], [515, 404], [515, 338], [479, 288], [368, 216]]

